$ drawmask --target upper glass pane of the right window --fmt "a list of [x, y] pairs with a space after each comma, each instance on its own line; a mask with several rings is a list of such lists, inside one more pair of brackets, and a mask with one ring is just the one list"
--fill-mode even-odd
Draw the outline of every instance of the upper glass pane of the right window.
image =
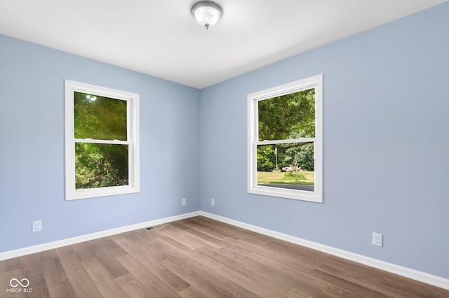
[[259, 141], [315, 136], [315, 89], [258, 102]]

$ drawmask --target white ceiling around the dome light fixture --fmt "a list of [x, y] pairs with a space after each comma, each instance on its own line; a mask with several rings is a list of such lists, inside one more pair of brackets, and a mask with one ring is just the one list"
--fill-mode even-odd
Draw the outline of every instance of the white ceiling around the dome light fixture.
[[447, 0], [0, 0], [0, 34], [203, 88]]

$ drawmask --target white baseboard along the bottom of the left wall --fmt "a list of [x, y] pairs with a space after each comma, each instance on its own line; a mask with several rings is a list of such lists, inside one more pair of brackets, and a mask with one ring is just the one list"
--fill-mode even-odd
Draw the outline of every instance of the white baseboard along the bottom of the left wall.
[[185, 213], [181, 215], [171, 216], [170, 218], [161, 218], [159, 220], [150, 220], [149, 222], [141, 222], [135, 225], [128, 225], [126, 227], [117, 227], [115, 229], [107, 229], [106, 231], [96, 232], [92, 234], [86, 234], [81, 236], [76, 236], [73, 238], [62, 239], [58, 241], [48, 242], [39, 244], [37, 246], [29, 246], [27, 248], [20, 248], [18, 250], [10, 250], [5, 253], [0, 253], [0, 261], [12, 259], [13, 257], [21, 257], [22, 255], [31, 255], [32, 253], [40, 253], [44, 250], [51, 250], [54, 248], [60, 248], [62, 246], [69, 246], [72, 244], [80, 243], [83, 241], [89, 241], [93, 239], [98, 239], [106, 236], [112, 236], [115, 234], [120, 234], [124, 232], [130, 232], [135, 229], [143, 229], [145, 227], [151, 227], [153, 225], [163, 225], [166, 222], [174, 222], [175, 220], [183, 220], [185, 218], [192, 218], [199, 215], [199, 211], [192, 213]]

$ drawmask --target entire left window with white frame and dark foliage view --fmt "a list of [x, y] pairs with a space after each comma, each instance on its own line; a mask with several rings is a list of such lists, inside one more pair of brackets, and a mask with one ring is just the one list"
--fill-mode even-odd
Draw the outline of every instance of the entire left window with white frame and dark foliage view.
[[139, 94], [65, 80], [66, 200], [140, 191]]

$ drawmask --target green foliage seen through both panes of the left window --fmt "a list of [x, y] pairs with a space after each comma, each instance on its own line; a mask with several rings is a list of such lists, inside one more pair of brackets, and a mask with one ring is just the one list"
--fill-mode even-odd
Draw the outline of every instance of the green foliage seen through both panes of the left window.
[[[74, 92], [74, 136], [126, 141], [126, 101]], [[76, 189], [119, 185], [128, 185], [128, 146], [76, 141]]]

